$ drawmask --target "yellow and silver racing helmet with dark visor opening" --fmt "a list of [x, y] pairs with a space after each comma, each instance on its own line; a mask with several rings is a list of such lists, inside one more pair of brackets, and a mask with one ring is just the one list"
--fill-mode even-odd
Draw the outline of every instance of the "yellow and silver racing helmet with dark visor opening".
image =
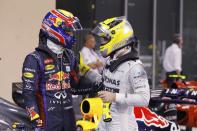
[[133, 28], [124, 17], [109, 18], [100, 22], [92, 33], [99, 40], [100, 52], [103, 57], [136, 42]]

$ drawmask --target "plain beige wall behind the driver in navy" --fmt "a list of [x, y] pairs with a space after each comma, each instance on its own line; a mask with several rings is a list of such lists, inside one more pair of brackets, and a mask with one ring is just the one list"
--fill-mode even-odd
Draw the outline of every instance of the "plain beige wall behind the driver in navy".
[[12, 82], [21, 81], [24, 57], [38, 44], [45, 13], [54, 0], [0, 1], [0, 97], [12, 100]]

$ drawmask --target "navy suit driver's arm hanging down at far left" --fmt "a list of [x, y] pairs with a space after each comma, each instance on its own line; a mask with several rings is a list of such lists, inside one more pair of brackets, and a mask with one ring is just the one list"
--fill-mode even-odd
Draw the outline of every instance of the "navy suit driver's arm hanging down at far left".
[[25, 58], [22, 69], [24, 103], [29, 118], [32, 122], [39, 119], [39, 110], [36, 101], [36, 93], [38, 91], [39, 82], [38, 66], [39, 64], [36, 58], [30, 54]]

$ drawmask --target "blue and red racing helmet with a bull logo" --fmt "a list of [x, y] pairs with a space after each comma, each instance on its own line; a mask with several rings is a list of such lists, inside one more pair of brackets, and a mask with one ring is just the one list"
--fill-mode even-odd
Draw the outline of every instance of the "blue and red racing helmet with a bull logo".
[[69, 49], [76, 41], [73, 32], [81, 29], [79, 19], [62, 9], [48, 12], [41, 25], [41, 31], [48, 39]]

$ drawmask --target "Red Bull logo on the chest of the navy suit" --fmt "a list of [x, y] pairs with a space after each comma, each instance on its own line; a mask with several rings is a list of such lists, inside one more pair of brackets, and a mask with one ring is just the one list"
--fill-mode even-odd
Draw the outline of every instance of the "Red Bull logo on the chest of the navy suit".
[[[49, 81], [46, 83], [46, 90], [60, 90], [70, 88], [70, 83], [65, 82], [69, 79], [69, 74], [63, 71], [59, 71], [50, 76]], [[52, 81], [55, 81], [52, 83]]]

